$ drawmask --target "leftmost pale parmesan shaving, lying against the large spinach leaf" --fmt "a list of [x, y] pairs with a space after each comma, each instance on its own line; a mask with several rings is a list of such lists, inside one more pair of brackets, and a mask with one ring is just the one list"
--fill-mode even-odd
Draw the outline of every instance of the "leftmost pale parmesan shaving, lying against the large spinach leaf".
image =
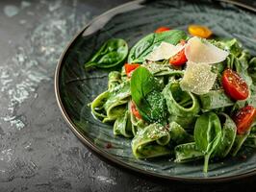
[[148, 54], [146, 60], [168, 60], [172, 56], [175, 56], [184, 48], [184, 45], [178, 44], [173, 45], [167, 42], [162, 42], [158, 47], [156, 47], [150, 54]]

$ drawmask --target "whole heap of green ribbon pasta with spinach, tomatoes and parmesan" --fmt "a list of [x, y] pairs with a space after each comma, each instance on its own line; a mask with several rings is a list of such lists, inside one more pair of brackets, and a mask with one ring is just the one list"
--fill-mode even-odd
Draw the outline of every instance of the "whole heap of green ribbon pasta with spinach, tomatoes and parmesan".
[[[203, 52], [201, 58], [192, 55], [192, 41], [196, 49], [204, 47], [194, 52]], [[123, 39], [107, 41], [86, 68], [129, 62], [109, 73], [108, 87], [90, 109], [114, 126], [116, 136], [131, 139], [136, 158], [171, 156], [177, 163], [204, 158], [207, 172], [212, 160], [256, 148], [256, 58], [237, 39], [209, 40], [171, 30], [144, 36], [127, 49]]]

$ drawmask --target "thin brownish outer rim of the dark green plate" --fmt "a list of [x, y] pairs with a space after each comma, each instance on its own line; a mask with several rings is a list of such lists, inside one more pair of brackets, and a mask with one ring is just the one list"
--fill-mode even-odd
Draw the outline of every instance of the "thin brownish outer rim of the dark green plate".
[[[103, 157], [104, 160], [109, 161], [110, 163], [114, 163], [115, 165], [117, 165], [118, 167], [122, 167], [125, 168], [125, 171], [133, 171], [134, 173], [137, 174], [142, 174], [143, 176], [150, 176], [150, 177], [155, 177], [157, 179], [164, 179], [164, 180], [169, 180], [169, 181], [186, 181], [186, 182], [225, 182], [225, 181], [231, 181], [231, 180], [240, 180], [240, 179], [244, 179], [244, 178], [248, 178], [248, 177], [252, 177], [256, 175], [256, 168], [252, 169], [251, 171], [247, 171], [244, 172], [242, 174], [238, 174], [238, 175], [234, 175], [234, 176], [224, 176], [224, 177], [205, 177], [205, 178], [192, 178], [192, 177], [174, 177], [174, 176], [164, 176], [158, 173], [154, 173], [154, 172], [150, 172], [150, 171], [146, 171], [143, 170], [141, 168], [136, 168], [132, 165], [129, 165], [127, 163], [124, 163], [123, 161], [115, 158], [114, 156], [112, 156], [111, 154], [109, 154], [108, 152], [100, 149], [99, 147], [95, 146], [93, 144], [93, 142], [90, 141], [90, 138], [86, 135], [83, 134], [83, 132], [79, 131], [79, 129], [76, 128], [76, 125], [72, 122], [72, 120], [70, 119], [70, 117], [68, 116], [66, 110], [64, 109], [64, 104], [61, 98], [61, 94], [60, 94], [60, 72], [62, 70], [63, 67], [63, 63], [64, 63], [64, 58], [66, 56], [67, 51], [69, 50], [69, 48], [73, 45], [73, 43], [75, 42], [75, 40], [81, 36], [83, 34], [83, 32], [90, 27], [90, 25], [94, 22], [96, 22], [98, 19], [101, 19], [102, 17], [104, 17], [105, 15], [109, 14], [109, 13], [114, 13], [117, 10], [122, 9], [123, 7], [129, 6], [129, 5], [136, 5], [136, 4], [141, 4], [142, 2], [144, 2], [144, 0], [135, 0], [132, 2], [128, 2], [128, 3], [124, 3], [121, 4], [119, 6], [116, 6], [115, 8], [107, 11], [107, 12], [103, 12], [99, 15], [97, 15], [96, 17], [94, 17], [93, 19], [90, 20], [90, 22], [85, 25], [81, 31], [79, 31], [65, 46], [64, 51], [60, 57], [60, 59], [58, 60], [56, 69], [55, 69], [55, 74], [54, 74], [54, 90], [55, 90], [55, 96], [56, 96], [56, 100], [57, 100], [57, 104], [58, 107], [61, 110], [61, 113], [64, 117], [65, 122], [67, 123], [69, 129], [79, 138], [79, 140], [86, 145], [87, 148], [90, 149], [90, 151], [95, 154], [96, 156], [100, 156]], [[225, 2], [227, 4], [231, 4], [229, 2]], [[240, 7], [240, 6], [239, 6]], [[102, 158], [101, 158], [102, 159]], [[108, 162], [108, 163], [109, 163]]]

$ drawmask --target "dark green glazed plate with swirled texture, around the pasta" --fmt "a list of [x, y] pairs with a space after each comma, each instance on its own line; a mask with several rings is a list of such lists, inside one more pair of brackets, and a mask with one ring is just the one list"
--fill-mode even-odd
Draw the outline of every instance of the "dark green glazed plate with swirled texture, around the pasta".
[[[58, 104], [71, 130], [96, 154], [122, 167], [168, 180], [221, 181], [256, 174], [256, 153], [242, 150], [236, 157], [210, 164], [177, 164], [171, 156], [139, 160], [132, 155], [131, 140], [113, 134], [113, 127], [94, 119], [88, 104], [107, 88], [108, 72], [86, 72], [84, 63], [110, 37], [120, 37], [131, 47], [159, 26], [186, 30], [190, 24], [206, 25], [218, 36], [236, 37], [256, 54], [256, 15], [227, 3], [212, 1], [134, 1], [106, 12], [75, 36], [56, 69]], [[243, 157], [242, 157], [243, 156]], [[244, 158], [246, 156], [246, 158]]]

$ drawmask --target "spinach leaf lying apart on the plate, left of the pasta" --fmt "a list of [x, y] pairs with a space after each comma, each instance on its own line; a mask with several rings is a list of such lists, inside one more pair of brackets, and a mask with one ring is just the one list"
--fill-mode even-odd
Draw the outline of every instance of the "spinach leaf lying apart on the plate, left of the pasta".
[[85, 64], [99, 68], [110, 68], [123, 62], [128, 55], [128, 45], [121, 38], [112, 38], [105, 42], [96, 54]]

